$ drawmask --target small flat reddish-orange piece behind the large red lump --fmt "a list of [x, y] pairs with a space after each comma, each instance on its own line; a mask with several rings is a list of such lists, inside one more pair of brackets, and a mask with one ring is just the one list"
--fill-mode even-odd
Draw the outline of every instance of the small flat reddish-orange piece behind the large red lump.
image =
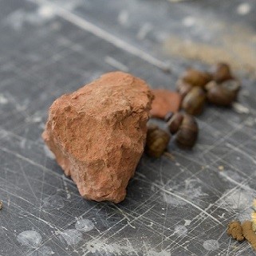
[[155, 99], [152, 102], [152, 117], [164, 119], [167, 112], [178, 112], [181, 104], [179, 93], [171, 92], [167, 89], [153, 89]]

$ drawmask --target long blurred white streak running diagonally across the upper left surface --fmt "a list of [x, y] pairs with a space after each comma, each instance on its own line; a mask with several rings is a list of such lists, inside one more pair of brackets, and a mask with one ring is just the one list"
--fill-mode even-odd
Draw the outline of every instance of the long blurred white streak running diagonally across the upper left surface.
[[53, 2], [49, 2], [47, 0], [34, 0], [34, 2], [36, 2], [38, 5], [51, 5], [57, 16], [65, 19], [65, 21], [73, 23], [73, 25], [80, 27], [82, 30], [93, 33], [96, 37], [100, 37], [104, 39], [104, 41], [110, 42], [112, 45], [115, 45], [119, 49], [123, 49], [127, 53], [130, 53], [136, 57], [140, 57], [144, 61], [155, 65], [163, 71], [170, 71], [170, 65], [166, 62], [160, 61], [156, 57], [153, 57], [152, 55], [144, 52], [143, 50], [136, 48], [134, 45], [130, 45], [128, 42], [123, 41], [119, 37], [112, 35], [112, 33], [108, 33], [107, 31], [101, 29], [93, 23], [85, 20], [85, 18], [81, 18], [76, 14], [73, 14], [70, 10], [61, 7], [61, 5], [57, 6]]

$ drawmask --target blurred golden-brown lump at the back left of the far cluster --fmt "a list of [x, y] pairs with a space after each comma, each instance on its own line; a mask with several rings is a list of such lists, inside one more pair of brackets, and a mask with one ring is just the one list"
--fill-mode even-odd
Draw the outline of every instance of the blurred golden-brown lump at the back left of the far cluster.
[[197, 69], [187, 69], [181, 79], [192, 86], [204, 87], [209, 81], [212, 80], [211, 74], [201, 72]]

